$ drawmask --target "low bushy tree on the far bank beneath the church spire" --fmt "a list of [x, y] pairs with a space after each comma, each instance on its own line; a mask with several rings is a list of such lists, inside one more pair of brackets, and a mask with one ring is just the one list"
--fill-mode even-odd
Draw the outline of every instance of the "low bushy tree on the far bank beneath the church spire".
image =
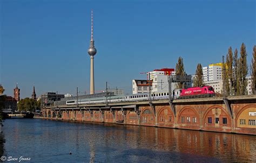
[[24, 98], [18, 102], [18, 110], [19, 111], [36, 111], [38, 106], [37, 101], [33, 100], [32, 98]]

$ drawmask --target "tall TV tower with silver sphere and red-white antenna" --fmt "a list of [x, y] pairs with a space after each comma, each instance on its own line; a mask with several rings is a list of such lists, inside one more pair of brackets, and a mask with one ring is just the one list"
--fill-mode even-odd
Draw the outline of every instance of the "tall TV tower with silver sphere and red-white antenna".
[[93, 59], [94, 55], [96, 55], [97, 50], [94, 47], [94, 40], [93, 40], [93, 15], [92, 15], [92, 32], [91, 32], [91, 41], [90, 47], [88, 49], [88, 54], [91, 56], [91, 81], [90, 81], [90, 94], [94, 94], [94, 66], [93, 66]]

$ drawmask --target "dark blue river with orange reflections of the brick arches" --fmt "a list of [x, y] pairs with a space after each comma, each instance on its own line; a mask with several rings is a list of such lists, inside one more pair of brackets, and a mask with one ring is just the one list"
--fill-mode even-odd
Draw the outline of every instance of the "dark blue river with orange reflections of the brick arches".
[[45, 119], [3, 124], [5, 162], [256, 161], [256, 136]]

